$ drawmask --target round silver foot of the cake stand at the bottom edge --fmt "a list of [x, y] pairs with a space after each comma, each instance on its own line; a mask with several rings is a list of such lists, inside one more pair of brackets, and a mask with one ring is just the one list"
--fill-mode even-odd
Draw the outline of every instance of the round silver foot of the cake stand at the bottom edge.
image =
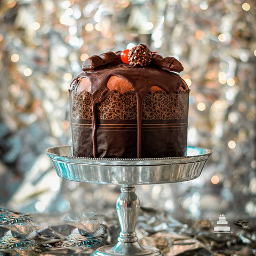
[[[118, 252], [118, 250], [116, 249], [116, 246], [113, 247], [113, 245], [106, 245], [106, 246], [102, 246], [99, 249], [97, 249], [97, 251], [94, 252], [93, 256], [146, 256], [146, 255], [151, 255], [151, 256], [163, 256], [162, 252], [152, 246], [140, 246], [141, 251], [140, 252], [136, 252], [131, 253], [133, 251], [134, 248], [131, 248], [131, 246], [127, 246], [127, 252], [129, 253], [124, 253], [124, 252]], [[137, 248], [138, 249], [138, 248]]]

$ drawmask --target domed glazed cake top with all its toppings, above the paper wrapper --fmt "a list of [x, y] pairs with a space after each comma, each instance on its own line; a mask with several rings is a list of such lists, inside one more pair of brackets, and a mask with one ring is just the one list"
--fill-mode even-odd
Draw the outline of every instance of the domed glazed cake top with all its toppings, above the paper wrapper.
[[103, 92], [116, 88], [115, 85], [109, 86], [109, 81], [114, 81], [112, 78], [121, 81], [122, 86], [129, 84], [131, 91], [142, 98], [152, 87], [168, 94], [189, 91], [185, 81], [177, 74], [183, 70], [181, 63], [174, 57], [163, 58], [151, 52], [144, 44], [131, 50], [93, 55], [84, 61], [82, 70], [84, 72], [71, 82], [69, 91], [77, 91], [78, 88], [79, 92], [86, 90], [97, 101], [103, 97]]

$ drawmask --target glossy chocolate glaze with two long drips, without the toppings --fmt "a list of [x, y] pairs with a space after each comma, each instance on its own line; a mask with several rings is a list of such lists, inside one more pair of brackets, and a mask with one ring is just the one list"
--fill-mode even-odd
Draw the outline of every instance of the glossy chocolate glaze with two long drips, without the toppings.
[[[114, 53], [115, 54], [115, 53]], [[114, 55], [110, 54], [113, 58]], [[116, 54], [115, 54], [116, 55]], [[111, 58], [112, 58], [111, 57]], [[101, 57], [99, 57], [102, 59]], [[91, 61], [93, 65], [99, 67], [103, 63], [99, 58], [93, 57]], [[99, 61], [99, 62], [98, 62]], [[86, 64], [87, 65], [87, 64]], [[86, 67], [83, 65], [83, 70]], [[90, 64], [91, 65], [91, 64]], [[89, 65], [89, 66], [90, 66]], [[88, 66], [88, 68], [89, 68]], [[158, 86], [167, 94], [179, 93], [180, 87], [187, 90], [186, 83], [183, 83], [178, 74], [166, 72], [162, 69], [154, 67], [133, 67], [130, 65], [119, 64], [116, 66], [101, 66], [102, 68], [94, 71], [86, 71], [73, 79], [70, 92], [76, 90], [81, 78], [89, 79], [91, 86], [89, 93], [91, 94], [92, 113], [93, 113], [93, 155], [97, 157], [97, 118], [95, 106], [97, 103], [105, 99], [106, 93], [109, 91], [107, 82], [111, 76], [123, 78], [131, 84], [137, 96], [137, 115], [138, 115], [138, 138], [137, 138], [137, 157], [141, 156], [141, 111], [142, 102], [146, 94], [152, 86]], [[78, 81], [79, 80], [79, 81]]]

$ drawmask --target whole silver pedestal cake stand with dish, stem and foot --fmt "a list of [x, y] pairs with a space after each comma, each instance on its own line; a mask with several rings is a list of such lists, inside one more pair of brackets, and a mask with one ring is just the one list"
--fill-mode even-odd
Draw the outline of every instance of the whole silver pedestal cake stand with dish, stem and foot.
[[89, 183], [122, 185], [116, 210], [121, 232], [116, 245], [99, 247], [94, 256], [158, 256], [162, 252], [138, 243], [135, 224], [139, 215], [136, 184], [161, 184], [193, 180], [212, 154], [209, 149], [188, 147], [185, 157], [114, 159], [71, 156], [70, 146], [47, 148], [46, 154], [59, 177]]

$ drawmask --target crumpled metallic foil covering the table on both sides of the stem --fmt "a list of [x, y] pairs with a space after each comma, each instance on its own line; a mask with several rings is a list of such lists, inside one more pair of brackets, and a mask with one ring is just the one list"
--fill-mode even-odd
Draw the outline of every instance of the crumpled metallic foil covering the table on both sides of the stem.
[[[92, 255], [114, 244], [120, 227], [115, 212], [23, 214], [0, 207], [0, 255]], [[230, 234], [214, 234], [214, 221], [175, 220], [167, 211], [141, 207], [137, 235], [141, 245], [165, 256], [256, 255], [256, 222], [237, 220]]]

